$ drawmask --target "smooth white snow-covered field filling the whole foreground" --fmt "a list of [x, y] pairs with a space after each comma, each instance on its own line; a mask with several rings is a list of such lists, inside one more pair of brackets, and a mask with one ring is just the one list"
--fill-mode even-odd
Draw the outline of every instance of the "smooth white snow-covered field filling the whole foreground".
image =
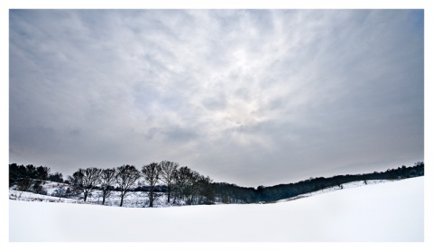
[[9, 240], [423, 241], [424, 177], [272, 204], [119, 208], [9, 200]]

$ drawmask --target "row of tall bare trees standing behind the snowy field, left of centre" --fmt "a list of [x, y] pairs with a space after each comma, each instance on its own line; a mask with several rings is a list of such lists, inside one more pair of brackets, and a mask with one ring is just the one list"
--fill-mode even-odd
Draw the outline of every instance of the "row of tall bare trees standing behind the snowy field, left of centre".
[[210, 187], [212, 180], [204, 177], [188, 167], [179, 167], [179, 163], [162, 161], [161, 163], [150, 163], [143, 165], [141, 172], [134, 165], [123, 165], [117, 168], [98, 169], [90, 167], [78, 169], [69, 176], [69, 184], [78, 191], [82, 191], [84, 201], [88, 200], [91, 191], [100, 189], [102, 191], [102, 204], [113, 191], [113, 187], [120, 191], [120, 207], [124, 204], [124, 197], [132, 191], [139, 179], [143, 178], [149, 186], [149, 207], [153, 207], [155, 199], [155, 188], [163, 185], [167, 189], [167, 202], [176, 196], [191, 205], [196, 201], [211, 201], [214, 199], [213, 190]]

